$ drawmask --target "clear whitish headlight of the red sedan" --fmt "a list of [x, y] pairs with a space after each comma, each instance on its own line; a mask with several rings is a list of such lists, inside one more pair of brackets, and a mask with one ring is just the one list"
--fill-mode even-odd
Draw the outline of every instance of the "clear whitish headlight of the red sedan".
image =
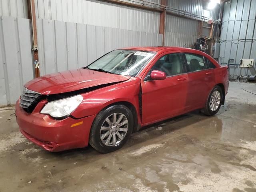
[[41, 110], [42, 114], [49, 114], [52, 117], [64, 117], [70, 115], [82, 102], [83, 96], [76, 95], [73, 97], [48, 102]]

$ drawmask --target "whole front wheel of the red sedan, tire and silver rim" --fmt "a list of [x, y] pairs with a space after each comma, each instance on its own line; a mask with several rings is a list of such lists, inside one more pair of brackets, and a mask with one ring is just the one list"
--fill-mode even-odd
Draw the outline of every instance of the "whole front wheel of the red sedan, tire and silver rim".
[[121, 148], [134, 126], [134, 118], [129, 108], [113, 105], [102, 110], [95, 118], [90, 131], [90, 145], [100, 153], [108, 153]]

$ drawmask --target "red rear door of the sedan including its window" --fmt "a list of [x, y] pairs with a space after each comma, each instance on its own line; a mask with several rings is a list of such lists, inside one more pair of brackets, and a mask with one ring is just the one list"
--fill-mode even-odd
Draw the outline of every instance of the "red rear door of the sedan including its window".
[[188, 72], [186, 110], [201, 108], [214, 87], [214, 70], [209, 68], [208, 61], [200, 54], [184, 52], [183, 56]]

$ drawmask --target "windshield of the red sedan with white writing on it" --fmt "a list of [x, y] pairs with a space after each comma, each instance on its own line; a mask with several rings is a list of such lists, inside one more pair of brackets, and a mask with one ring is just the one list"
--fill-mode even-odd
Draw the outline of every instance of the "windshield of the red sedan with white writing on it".
[[125, 76], [136, 76], [155, 52], [114, 50], [87, 66], [90, 70]]

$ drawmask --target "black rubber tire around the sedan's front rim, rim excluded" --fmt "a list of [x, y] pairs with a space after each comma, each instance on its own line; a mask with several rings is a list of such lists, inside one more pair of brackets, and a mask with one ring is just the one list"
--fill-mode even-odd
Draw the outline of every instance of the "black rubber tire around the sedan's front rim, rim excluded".
[[[128, 130], [124, 136], [124, 138], [115, 146], [106, 146], [101, 138], [100, 138], [100, 129], [102, 125], [104, 124], [105, 120], [114, 113], [121, 113], [124, 114], [126, 119], [128, 120]], [[122, 105], [113, 105], [105, 108], [102, 110], [94, 119], [94, 122], [92, 123], [92, 128], [90, 130], [90, 138], [89, 138], [89, 143], [90, 145], [98, 152], [100, 153], [109, 153], [113, 152], [115, 150], [120, 149], [129, 139], [130, 135], [132, 134], [132, 130], [134, 127], [134, 117], [132, 115], [131, 110]]]

